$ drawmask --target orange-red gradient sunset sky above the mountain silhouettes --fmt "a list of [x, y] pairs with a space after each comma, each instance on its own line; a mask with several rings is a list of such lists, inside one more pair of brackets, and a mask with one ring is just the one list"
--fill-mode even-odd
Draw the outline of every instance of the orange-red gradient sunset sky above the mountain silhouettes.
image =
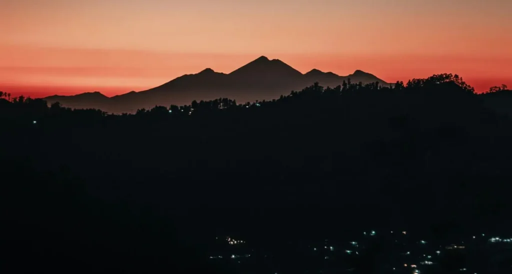
[[457, 73], [512, 86], [510, 0], [0, 0], [0, 90], [154, 87], [265, 55], [394, 82]]

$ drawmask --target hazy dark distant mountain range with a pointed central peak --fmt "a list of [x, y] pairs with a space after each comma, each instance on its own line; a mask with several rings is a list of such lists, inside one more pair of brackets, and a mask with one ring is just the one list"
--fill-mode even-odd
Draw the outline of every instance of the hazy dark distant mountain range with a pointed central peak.
[[220, 97], [235, 99], [238, 103], [271, 100], [281, 95], [288, 95], [291, 90], [300, 90], [314, 82], [319, 82], [326, 87], [334, 87], [348, 78], [353, 83], [388, 84], [372, 74], [359, 70], [347, 76], [316, 69], [302, 74], [281, 60], [269, 60], [261, 56], [229, 74], [205, 69], [197, 74], [186, 74], [141, 92], [129, 92], [113, 97], [92, 92], [74, 96], [54, 95], [44, 99], [49, 104], [60, 102], [63, 106], [71, 108], [99, 108], [113, 113], [132, 113], [139, 108], [147, 109], [156, 105], [168, 107], [171, 104], [185, 105], [193, 100], [212, 100]]

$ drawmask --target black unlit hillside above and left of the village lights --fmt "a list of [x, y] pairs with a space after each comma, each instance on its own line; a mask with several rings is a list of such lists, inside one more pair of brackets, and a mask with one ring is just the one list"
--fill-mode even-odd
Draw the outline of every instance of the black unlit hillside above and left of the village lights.
[[496, 95], [436, 75], [122, 116], [0, 99], [6, 261], [224, 271], [191, 259], [205, 238], [506, 227], [512, 122]]

